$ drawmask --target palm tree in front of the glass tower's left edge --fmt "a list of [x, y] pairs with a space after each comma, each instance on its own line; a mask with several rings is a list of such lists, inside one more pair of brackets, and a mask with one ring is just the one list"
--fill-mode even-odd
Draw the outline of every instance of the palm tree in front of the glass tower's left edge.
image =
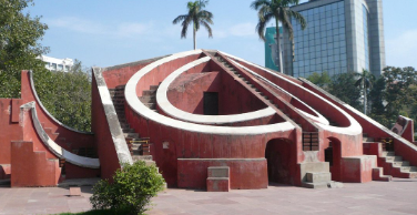
[[257, 10], [257, 17], [260, 18], [260, 21], [256, 25], [257, 34], [260, 34], [260, 38], [265, 41], [265, 27], [266, 23], [275, 18], [275, 24], [276, 24], [276, 43], [278, 47], [278, 59], [279, 59], [279, 70], [282, 73], [284, 73], [284, 66], [283, 66], [283, 57], [281, 51], [281, 43], [279, 43], [279, 27], [278, 23], [282, 23], [282, 25], [288, 31], [288, 37], [292, 42], [292, 49], [293, 49], [293, 60], [294, 60], [294, 43], [293, 43], [293, 25], [291, 24], [291, 18], [294, 18], [297, 20], [302, 29], [304, 30], [307, 25], [306, 20], [304, 17], [291, 10], [291, 6], [298, 4], [299, 0], [255, 0], [252, 2], [251, 8], [254, 10]]

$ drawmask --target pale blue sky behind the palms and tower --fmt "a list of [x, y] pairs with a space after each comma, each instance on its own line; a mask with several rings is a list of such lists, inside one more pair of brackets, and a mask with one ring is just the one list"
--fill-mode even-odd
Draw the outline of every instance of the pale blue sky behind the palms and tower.
[[[181, 39], [187, 0], [35, 0], [28, 9], [49, 25], [41, 43], [54, 58], [79, 59], [85, 66], [109, 66], [187, 51], [191, 29]], [[252, 0], [211, 0], [213, 39], [197, 33], [197, 48], [216, 49], [264, 65], [264, 43], [255, 32]], [[304, 2], [304, 1], [302, 1]], [[400, 4], [399, 4], [400, 2]], [[384, 0], [387, 65], [417, 68], [417, 0]], [[268, 24], [273, 25], [273, 23]]]

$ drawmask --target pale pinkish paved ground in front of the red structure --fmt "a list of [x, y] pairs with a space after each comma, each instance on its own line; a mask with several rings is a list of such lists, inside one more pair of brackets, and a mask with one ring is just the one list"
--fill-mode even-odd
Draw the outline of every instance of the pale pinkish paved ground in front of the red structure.
[[[0, 187], [0, 214], [54, 214], [91, 208], [91, 187], [69, 197], [68, 188]], [[269, 186], [267, 190], [207, 193], [166, 190], [153, 199], [149, 215], [268, 215], [268, 214], [417, 214], [417, 180], [345, 184], [344, 188], [308, 190]]]

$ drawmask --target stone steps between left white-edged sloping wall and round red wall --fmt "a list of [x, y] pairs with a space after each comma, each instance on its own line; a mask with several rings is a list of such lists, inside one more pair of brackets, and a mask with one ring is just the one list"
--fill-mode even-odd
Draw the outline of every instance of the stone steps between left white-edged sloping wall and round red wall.
[[152, 161], [152, 155], [150, 155], [150, 140], [141, 139], [140, 135], [130, 127], [126, 121], [124, 113], [124, 86], [125, 85], [119, 85], [115, 89], [109, 89], [109, 91], [133, 162], [144, 161], [149, 165], [155, 165], [155, 162]]

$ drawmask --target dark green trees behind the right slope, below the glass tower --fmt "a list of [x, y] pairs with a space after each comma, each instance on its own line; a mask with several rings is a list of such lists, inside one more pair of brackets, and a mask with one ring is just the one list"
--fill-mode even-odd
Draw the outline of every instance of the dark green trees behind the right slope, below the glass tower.
[[[367, 104], [367, 115], [389, 129], [398, 115], [417, 122], [417, 71], [414, 68], [387, 66], [378, 79], [360, 73], [360, 78], [365, 76], [373, 82], [373, 88], [367, 90], [369, 93], [364, 94], [366, 103], [360, 101], [362, 89], [355, 86], [366, 82], [355, 79], [357, 73], [334, 75], [326, 85], [323, 84], [326, 83], [323, 81], [325, 76], [325, 73], [313, 73], [307, 79], [359, 111]], [[417, 126], [415, 130], [417, 132]]]

